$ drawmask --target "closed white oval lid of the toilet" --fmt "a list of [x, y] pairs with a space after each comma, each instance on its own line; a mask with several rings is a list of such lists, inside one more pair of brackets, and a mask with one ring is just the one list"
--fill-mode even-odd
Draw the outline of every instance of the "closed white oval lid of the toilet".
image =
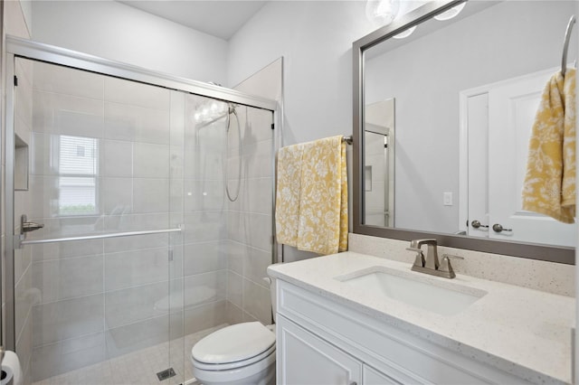
[[204, 363], [238, 362], [267, 351], [274, 343], [275, 334], [259, 322], [233, 324], [195, 343], [191, 355]]

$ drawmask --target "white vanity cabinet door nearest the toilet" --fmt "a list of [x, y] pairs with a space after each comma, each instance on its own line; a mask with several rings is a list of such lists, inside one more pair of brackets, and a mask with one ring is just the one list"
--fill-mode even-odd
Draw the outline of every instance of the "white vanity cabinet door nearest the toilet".
[[278, 384], [362, 383], [362, 362], [281, 315], [277, 327]]

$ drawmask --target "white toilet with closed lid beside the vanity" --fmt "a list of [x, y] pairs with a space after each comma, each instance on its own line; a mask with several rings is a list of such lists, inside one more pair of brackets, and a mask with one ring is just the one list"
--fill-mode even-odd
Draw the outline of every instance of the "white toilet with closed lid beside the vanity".
[[[275, 320], [275, 282], [270, 283]], [[275, 325], [246, 322], [226, 326], [191, 349], [195, 379], [204, 385], [275, 384]]]

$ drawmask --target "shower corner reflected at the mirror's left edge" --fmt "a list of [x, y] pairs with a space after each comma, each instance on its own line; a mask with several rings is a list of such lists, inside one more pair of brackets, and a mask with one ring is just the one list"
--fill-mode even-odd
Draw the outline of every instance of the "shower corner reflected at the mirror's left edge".
[[394, 99], [365, 106], [365, 223], [394, 226]]

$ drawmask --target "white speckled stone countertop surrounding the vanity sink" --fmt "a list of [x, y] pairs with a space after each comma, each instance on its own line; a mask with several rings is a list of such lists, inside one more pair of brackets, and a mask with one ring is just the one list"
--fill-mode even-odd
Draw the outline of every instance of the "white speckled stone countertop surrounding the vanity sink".
[[[458, 314], [439, 315], [336, 279], [375, 267], [435, 286], [458, 285], [465, 293], [487, 294]], [[272, 265], [268, 273], [525, 380], [572, 382], [573, 297], [460, 274], [454, 279], [433, 277], [410, 268], [409, 263], [347, 251]]]

